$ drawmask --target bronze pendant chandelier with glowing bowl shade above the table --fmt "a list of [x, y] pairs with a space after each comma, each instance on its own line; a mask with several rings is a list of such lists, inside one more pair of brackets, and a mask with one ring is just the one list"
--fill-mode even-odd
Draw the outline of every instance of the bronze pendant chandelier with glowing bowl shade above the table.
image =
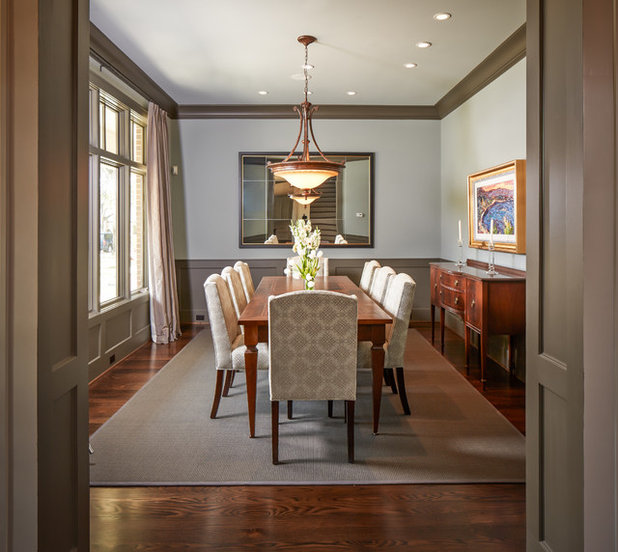
[[[299, 36], [297, 40], [305, 47], [305, 65], [303, 66], [305, 76], [305, 101], [300, 105], [294, 106], [294, 111], [296, 111], [300, 117], [300, 129], [298, 131], [296, 143], [292, 147], [290, 154], [279, 163], [269, 163], [268, 167], [276, 177], [284, 178], [295, 188], [310, 190], [324, 184], [324, 182], [332, 176], [337, 176], [345, 166], [345, 163], [337, 163], [328, 159], [320, 150], [313, 134], [311, 117], [318, 110], [318, 107], [311, 105], [307, 101], [307, 94], [309, 92], [309, 75], [307, 71], [310, 68], [308, 46], [312, 42], [315, 42], [316, 38], [314, 36], [302, 35]], [[320, 154], [321, 159], [312, 160], [309, 156], [309, 135], [311, 135], [313, 145]], [[298, 157], [293, 158], [292, 156], [296, 152], [296, 146], [298, 146], [298, 143], [301, 141], [301, 137], [303, 152]], [[293, 199], [298, 201], [295, 197]], [[317, 199], [317, 197], [314, 197], [304, 204], [307, 205], [315, 199]]]

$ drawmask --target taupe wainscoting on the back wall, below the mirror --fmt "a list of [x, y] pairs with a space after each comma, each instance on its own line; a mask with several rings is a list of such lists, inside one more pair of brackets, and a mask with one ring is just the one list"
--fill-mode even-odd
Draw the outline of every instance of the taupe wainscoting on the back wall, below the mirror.
[[[237, 259], [177, 259], [176, 278], [178, 281], [178, 300], [182, 322], [206, 322], [206, 303], [204, 301], [204, 281], [211, 274], [221, 273], [224, 267], [233, 266]], [[329, 258], [329, 272], [335, 276], [349, 276], [358, 283], [367, 259]], [[404, 272], [414, 278], [416, 294], [412, 320], [429, 320], [429, 263], [441, 259], [378, 259], [380, 263], [392, 266], [397, 272]], [[249, 261], [251, 275], [257, 286], [263, 276], [283, 275], [285, 259], [252, 259]]]

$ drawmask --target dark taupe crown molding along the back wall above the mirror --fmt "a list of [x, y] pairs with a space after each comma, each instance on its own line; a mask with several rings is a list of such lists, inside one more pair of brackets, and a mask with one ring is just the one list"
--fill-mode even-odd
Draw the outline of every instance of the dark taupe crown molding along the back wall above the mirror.
[[[293, 105], [179, 105], [178, 119], [298, 119]], [[315, 119], [438, 119], [433, 105], [320, 105]]]

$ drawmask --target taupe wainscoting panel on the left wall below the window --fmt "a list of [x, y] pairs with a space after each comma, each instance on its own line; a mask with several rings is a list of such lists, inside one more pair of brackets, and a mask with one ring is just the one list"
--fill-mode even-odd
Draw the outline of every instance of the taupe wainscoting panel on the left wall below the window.
[[88, 380], [101, 375], [150, 339], [147, 293], [88, 320]]

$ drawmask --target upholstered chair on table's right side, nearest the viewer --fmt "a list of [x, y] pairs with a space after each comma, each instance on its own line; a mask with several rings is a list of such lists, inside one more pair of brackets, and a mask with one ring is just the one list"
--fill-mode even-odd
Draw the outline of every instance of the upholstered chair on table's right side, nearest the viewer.
[[[384, 371], [390, 371], [388, 380], [392, 380], [392, 371], [397, 374], [396, 391], [404, 414], [410, 415], [406, 383], [403, 374], [403, 356], [408, 338], [408, 326], [412, 314], [416, 282], [408, 274], [397, 274], [388, 287], [382, 308], [393, 317], [393, 323], [387, 326], [386, 343], [384, 344]], [[358, 367], [371, 369], [371, 342], [363, 341], [358, 345]]]

